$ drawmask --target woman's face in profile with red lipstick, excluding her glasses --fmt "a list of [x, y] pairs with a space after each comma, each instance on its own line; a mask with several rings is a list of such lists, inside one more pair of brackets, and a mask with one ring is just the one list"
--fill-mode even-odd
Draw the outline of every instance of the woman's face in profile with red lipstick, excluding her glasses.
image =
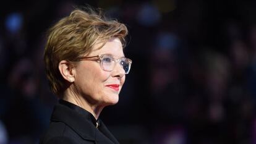
[[[90, 56], [99, 54], [111, 54], [114, 59], [124, 57], [122, 43], [119, 38], [109, 40], [101, 49], [100, 44], [95, 44]], [[101, 69], [98, 61], [80, 61], [75, 69], [74, 85], [77, 94], [85, 98], [88, 103], [98, 106], [116, 104], [119, 100], [119, 92], [126, 79], [124, 69], [116, 62], [114, 69], [109, 72]]]

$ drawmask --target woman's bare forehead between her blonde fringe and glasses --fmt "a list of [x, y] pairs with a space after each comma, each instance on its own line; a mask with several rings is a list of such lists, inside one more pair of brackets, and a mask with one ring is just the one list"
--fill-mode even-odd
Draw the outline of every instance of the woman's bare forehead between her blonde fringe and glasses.
[[[111, 54], [114, 57], [123, 57], [124, 56], [124, 52], [123, 52], [123, 48], [122, 48], [122, 43], [119, 40], [119, 38], [111, 38], [110, 40], [108, 40], [105, 45], [100, 48], [100, 46], [102, 46], [102, 42], [100, 43], [96, 43], [95, 46], [93, 46], [93, 51], [92, 53], [90, 53], [91, 56], [96, 56], [99, 54]], [[100, 48], [100, 49], [98, 49]]]

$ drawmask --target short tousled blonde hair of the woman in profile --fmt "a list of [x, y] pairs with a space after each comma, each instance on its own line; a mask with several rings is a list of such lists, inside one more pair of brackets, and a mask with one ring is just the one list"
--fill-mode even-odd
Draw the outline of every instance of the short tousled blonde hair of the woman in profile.
[[104, 45], [117, 37], [124, 47], [127, 33], [126, 25], [109, 20], [101, 11], [92, 8], [86, 11], [75, 9], [69, 16], [59, 20], [49, 29], [45, 46], [44, 60], [51, 91], [60, 97], [68, 87], [58, 69], [60, 61], [72, 62], [79, 56], [89, 54], [99, 40]]

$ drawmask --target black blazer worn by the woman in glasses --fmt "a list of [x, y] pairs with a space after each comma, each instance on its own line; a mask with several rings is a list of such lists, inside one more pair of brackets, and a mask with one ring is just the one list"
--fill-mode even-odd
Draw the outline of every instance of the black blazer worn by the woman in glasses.
[[71, 143], [117, 144], [118, 142], [105, 124], [102, 121], [96, 121], [90, 112], [60, 100], [54, 107], [49, 129], [41, 138], [40, 144]]

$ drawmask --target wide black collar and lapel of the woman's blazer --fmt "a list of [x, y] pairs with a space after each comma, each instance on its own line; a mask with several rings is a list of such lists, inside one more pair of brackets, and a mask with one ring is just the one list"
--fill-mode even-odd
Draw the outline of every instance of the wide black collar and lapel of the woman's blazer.
[[96, 119], [90, 112], [67, 101], [60, 100], [54, 106], [51, 121], [64, 122], [85, 140], [118, 143], [103, 122], [98, 121], [100, 127], [96, 129]]

